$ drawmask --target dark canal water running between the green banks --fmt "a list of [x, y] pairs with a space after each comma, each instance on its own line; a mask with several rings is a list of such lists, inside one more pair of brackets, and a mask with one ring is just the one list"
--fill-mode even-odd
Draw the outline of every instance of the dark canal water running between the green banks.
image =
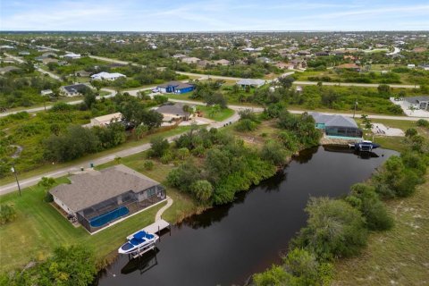
[[[119, 257], [98, 285], [231, 285], [280, 263], [279, 254], [306, 224], [308, 198], [339, 197], [368, 179], [396, 152], [376, 149], [361, 157], [341, 150], [304, 150], [273, 178], [172, 226], [158, 251], [129, 260]], [[119, 247], [119, 246], [118, 246]]]

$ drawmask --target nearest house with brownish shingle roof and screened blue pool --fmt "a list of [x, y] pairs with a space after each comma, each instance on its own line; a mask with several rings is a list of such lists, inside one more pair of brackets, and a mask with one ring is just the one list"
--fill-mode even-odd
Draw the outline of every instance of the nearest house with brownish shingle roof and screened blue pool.
[[77, 218], [91, 233], [166, 199], [159, 182], [123, 164], [75, 174], [69, 180], [49, 193], [61, 212]]

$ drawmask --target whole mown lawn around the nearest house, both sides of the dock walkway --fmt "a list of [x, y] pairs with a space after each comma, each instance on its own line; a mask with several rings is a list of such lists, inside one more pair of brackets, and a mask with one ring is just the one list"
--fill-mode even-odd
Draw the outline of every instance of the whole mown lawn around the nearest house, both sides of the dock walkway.
[[[146, 174], [165, 185], [165, 178], [173, 168], [172, 164], [161, 164], [154, 160], [155, 167], [147, 171], [143, 167], [145, 152], [121, 158], [121, 164]], [[109, 162], [97, 166], [103, 169], [116, 164]], [[66, 178], [57, 179], [67, 182]], [[153, 223], [156, 211], [165, 203], [154, 206], [147, 211], [136, 214], [127, 220], [117, 223], [95, 235], [88, 234], [82, 227], [75, 228], [59, 212], [43, 201], [45, 191], [37, 186], [24, 189], [22, 197], [17, 192], [0, 197], [1, 204], [15, 206], [18, 217], [13, 223], [0, 227], [0, 272], [26, 265], [31, 259], [44, 259], [60, 245], [80, 244], [92, 248], [101, 261], [114, 256], [125, 237], [147, 224]], [[173, 199], [172, 206], [164, 213], [163, 218], [170, 223], [181, 221], [189, 214], [199, 213], [205, 209], [198, 206], [193, 198], [177, 189], [167, 187], [167, 195]], [[22, 251], [24, 246], [25, 251]]]

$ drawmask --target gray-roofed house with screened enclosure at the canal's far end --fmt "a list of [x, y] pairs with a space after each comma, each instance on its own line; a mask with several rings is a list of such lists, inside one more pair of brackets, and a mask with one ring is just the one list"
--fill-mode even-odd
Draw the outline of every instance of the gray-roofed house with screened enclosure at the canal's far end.
[[357, 123], [343, 115], [309, 113], [315, 119], [315, 128], [324, 130], [324, 135], [337, 139], [362, 139], [363, 132]]

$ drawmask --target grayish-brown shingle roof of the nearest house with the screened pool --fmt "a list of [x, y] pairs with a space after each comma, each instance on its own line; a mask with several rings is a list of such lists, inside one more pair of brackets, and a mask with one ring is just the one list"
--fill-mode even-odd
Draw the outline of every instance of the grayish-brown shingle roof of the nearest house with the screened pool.
[[159, 182], [135, 172], [123, 164], [99, 172], [73, 175], [69, 179], [71, 184], [58, 185], [49, 192], [74, 212], [97, 205], [128, 191], [138, 193], [159, 185]]

